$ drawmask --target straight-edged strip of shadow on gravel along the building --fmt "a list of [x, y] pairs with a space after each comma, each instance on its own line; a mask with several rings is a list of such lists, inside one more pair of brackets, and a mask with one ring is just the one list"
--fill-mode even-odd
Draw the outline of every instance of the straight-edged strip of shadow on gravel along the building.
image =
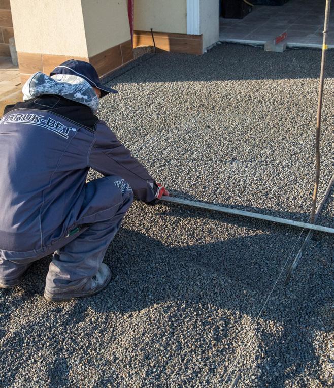
[[[327, 56], [326, 77], [331, 78], [334, 50], [328, 50]], [[104, 83], [114, 84], [121, 75], [122, 83], [319, 78], [320, 62], [321, 50], [316, 49], [274, 53], [263, 47], [224, 43], [202, 56], [146, 54], [114, 72]], [[131, 72], [134, 68], [137, 71]]]

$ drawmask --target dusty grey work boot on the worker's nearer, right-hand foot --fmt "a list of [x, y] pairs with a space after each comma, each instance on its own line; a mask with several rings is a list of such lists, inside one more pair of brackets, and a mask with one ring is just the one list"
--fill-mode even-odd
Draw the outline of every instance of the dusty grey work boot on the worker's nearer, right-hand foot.
[[106, 264], [102, 263], [97, 273], [92, 276], [82, 288], [70, 289], [68, 292], [66, 292], [66, 289], [62, 289], [61, 291], [54, 293], [45, 288], [44, 298], [52, 302], [64, 302], [69, 301], [72, 298], [89, 297], [107, 287], [110, 279], [111, 271]]

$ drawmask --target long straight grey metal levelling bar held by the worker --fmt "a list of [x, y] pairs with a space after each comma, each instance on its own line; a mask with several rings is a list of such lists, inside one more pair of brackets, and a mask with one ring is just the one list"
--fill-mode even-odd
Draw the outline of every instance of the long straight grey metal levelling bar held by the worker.
[[181, 204], [181, 205], [193, 206], [193, 207], [196, 207], [196, 208], [215, 210], [215, 211], [219, 211], [219, 212], [222, 212], [222, 213], [236, 214], [236, 215], [241, 215], [241, 216], [244, 216], [244, 217], [251, 217], [251, 218], [262, 219], [262, 220], [265, 220], [265, 221], [283, 223], [285, 225], [290, 225], [291, 227], [312, 229], [314, 231], [326, 232], [326, 233], [334, 234], [334, 228], [327, 228], [327, 227], [323, 227], [322, 225], [315, 225], [315, 224], [306, 223], [306, 222], [294, 221], [292, 219], [273, 217], [273, 216], [270, 216], [270, 215], [253, 213], [253, 212], [244, 211], [244, 210], [237, 210], [237, 209], [227, 208], [227, 207], [224, 207], [224, 206], [205, 204], [203, 202], [183, 200], [182, 198], [177, 198], [177, 197], [162, 196], [161, 200], [162, 201], [166, 201], [166, 202], [174, 202], [174, 203]]

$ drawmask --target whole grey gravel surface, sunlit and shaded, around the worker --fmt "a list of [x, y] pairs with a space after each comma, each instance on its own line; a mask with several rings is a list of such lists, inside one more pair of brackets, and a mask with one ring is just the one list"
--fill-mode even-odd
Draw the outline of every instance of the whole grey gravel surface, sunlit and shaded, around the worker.
[[[201, 57], [146, 55], [109, 78], [119, 94], [99, 115], [175, 195], [307, 220], [320, 56], [228, 44]], [[333, 56], [321, 192], [333, 173]], [[321, 224], [333, 226], [333, 197]], [[220, 387], [238, 370], [238, 387], [332, 386], [334, 239], [315, 234], [285, 287], [299, 235], [135, 202], [106, 254], [103, 292], [46, 302], [50, 257], [0, 292], [0, 386]]]

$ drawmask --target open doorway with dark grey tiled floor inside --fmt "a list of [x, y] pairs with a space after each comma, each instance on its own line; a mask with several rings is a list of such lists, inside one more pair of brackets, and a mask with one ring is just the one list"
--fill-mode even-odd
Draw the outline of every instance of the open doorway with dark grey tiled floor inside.
[[[221, 42], [263, 45], [286, 31], [287, 47], [322, 47], [325, 0], [222, 0], [224, 2], [219, 19]], [[234, 8], [226, 8], [229, 2]], [[327, 41], [328, 48], [334, 48], [333, 12]]]

